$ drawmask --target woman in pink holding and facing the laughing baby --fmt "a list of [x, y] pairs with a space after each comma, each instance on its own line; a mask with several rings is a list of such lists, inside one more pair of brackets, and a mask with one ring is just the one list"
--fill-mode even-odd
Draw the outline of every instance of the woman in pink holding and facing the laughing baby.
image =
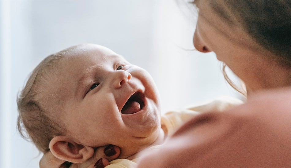
[[[215, 52], [244, 82], [248, 100], [223, 113], [210, 111], [183, 125], [139, 167], [290, 167], [290, 1], [195, 1], [193, 38]], [[104, 147], [105, 148], [105, 147]], [[88, 166], [104, 157], [99, 148]], [[107, 159], [96, 166], [106, 166]], [[63, 161], [44, 155], [41, 167]]]

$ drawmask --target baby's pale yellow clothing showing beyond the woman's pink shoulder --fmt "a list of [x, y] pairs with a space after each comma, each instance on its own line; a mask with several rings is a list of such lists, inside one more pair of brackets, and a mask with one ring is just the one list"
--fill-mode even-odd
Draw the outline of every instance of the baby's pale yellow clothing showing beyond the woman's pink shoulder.
[[[175, 111], [169, 111], [161, 116], [161, 125], [167, 129], [167, 136], [171, 136], [183, 123], [186, 123], [189, 119], [193, 118], [203, 112], [208, 111], [224, 111], [232, 108], [236, 105], [242, 104], [241, 100], [232, 97], [220, 97], [211, 102], [201, 103], [194, 105], [190, 108], [178, 109]], [[150, 147], [148, 150], [159, 149], [161, 145]], [[139, 158], [128, 159], [116, 159], [110, 162], [110, 165], [106, 168], [130, 168], [136, 167]]]

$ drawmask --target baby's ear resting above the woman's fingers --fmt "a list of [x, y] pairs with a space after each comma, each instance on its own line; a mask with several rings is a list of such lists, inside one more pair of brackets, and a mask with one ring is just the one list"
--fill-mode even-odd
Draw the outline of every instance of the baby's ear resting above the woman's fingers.
[[61, 135], [53, 137], [49, 148], [55, 157], [72, 163], [82, 163], [94, 154], [92, 147], [77, 144]]

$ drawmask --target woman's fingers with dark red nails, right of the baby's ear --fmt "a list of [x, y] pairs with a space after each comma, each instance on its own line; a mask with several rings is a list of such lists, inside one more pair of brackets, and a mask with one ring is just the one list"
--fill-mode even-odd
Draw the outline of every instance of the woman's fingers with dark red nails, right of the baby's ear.
[[72, 164], [70, 168], [75, 167], [105, 167], [109, 161], [116, 159], [120, 154], [120, 149], [114, 145], [102, 146], [96, 149], [94, 155], [87, 161], [79, 164]]

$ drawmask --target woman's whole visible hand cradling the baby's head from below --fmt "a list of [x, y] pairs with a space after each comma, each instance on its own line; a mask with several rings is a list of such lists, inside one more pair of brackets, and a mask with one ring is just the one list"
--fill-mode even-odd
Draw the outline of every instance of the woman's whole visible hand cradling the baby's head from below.
[[[70, 168], [74, 167], [105, 167], [109, 161], [116, 159], [120, 154], [120, 149], [114, 145], [102, 146], [95, 150], [94, 155], [83, 163], [73, 163]], [[69, 167], [64, 160], [56, 158], [50, 151], [45, 153], [40, 159], [40, 168], [51, 167]]]

